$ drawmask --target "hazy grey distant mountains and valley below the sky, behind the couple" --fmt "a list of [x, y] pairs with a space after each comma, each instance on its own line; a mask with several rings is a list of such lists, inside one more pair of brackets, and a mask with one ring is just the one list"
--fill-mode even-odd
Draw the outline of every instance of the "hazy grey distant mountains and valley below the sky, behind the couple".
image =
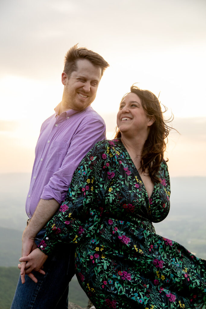
[[[30, 178], [29, 173], [0, 174], [0, 227], [4, 228], [0, 230], [2, 266], [15, 266], [16, 259], [19, 259], [21, 234], [27, 220], [25, 200]], [[206, 177], [172, 177], [170, 213], [165, 220], [154, 224], [157, 234], [183, 244], [188, 250], [204, 259], [206, 259], [205, 188]], [[11, 259], [6, 258], [8, 252]]]

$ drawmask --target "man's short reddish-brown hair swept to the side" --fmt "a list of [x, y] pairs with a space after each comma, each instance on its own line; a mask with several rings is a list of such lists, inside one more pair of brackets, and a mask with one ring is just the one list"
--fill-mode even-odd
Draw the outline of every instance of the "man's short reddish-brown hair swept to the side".
[[107, 61], [104, 60], [98, 53], [93, 52], [92, 50], [86, 49], [85, 47], [77, 48], [77, 45], [71, 47], [65, 55], [65, 66], [64, 72], [68, 75], [71, 75], [72, 72], [77, 70], [77, 61], [79, 59], [87, 59], [94, 66], [99, 66], [102, 70], [101, 77], [109, 66]]

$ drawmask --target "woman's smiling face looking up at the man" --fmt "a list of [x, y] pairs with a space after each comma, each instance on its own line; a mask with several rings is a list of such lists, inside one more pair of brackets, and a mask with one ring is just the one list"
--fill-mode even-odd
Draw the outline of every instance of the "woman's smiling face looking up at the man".
[[153, 124], [151, 117], [147, 116], [141, 100], [135, 93], [128, 93], [120, 103], [117, 113], [117, 126], [121, 134], [149, 134], [149, 127]]

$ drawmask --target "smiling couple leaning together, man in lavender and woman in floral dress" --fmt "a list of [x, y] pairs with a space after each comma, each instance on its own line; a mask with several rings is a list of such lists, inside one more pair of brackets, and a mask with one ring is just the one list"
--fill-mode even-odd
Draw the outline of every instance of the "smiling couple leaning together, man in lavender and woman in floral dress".
[[[81, 56], [74, 59], [74, 50], [81, 51]], [[33, 216], [23, 233], [25, 257], [20, 259], [22, 282], [24, 267], [28, 276], [24, 285], [19, 280], [11, 308], [66, 308], [74, 270], [97, 309], [201, 308], [205, 302], [205, 261], [156, 235], [152, 225], [162, 221], [170, 208], [170, 180], [163, 159], [170, 128], [159, 101], [150, 91], [132, 86], [120, 102], [115, 140], [104, 141], [103, 120], [89, 105], [108, 64], [102, 67], [100, 61], [92, 62], [97, 54], [85, 57], [88, 52], [77, 46], [68, 52], [73, 63], [62, 73], [61, 105], [41, 128], [30, 186], [30, 193], [36, 189], [40, 194], [40, 202], [34, 215], [32, 207], [28, 210]], [[69, 128], [69, 147], [73, 148], [58, 166], [64, 155], [59, 158], [59, 149], [56, 153], [52, 150], [50, 139], [53, 142], [58, 129], [66, 130], [67, 119], [71, 116], [73, 120], [75, 115]], [[81, 115], [84, 117], [78, 122]], [[88, 125], [92, 126], [90, 132], [83, 132]], [[79, 155], [81, 133], [85, 133], [85, 144]], [[58, 147], [70, 138], [63, 135]], [[90, 148], [103, 141], [88, 152], [86, 142], [92, 138]], [[84, 156], [78, 167], [77, 154], [79, 162]], [[39, 192], [33, 178], [42, 163], [43, 180], [48, 172], [51, 176]], [[32, 274], [32, 270], [36, 272]]]

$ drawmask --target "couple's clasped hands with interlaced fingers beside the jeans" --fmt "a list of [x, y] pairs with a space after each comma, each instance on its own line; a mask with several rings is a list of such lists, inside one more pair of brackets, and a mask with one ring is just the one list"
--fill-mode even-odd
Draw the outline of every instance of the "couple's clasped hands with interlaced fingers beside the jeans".
[[22, 283], [25, 282], [25, 274], [27, 274], [34, 282], [37, 282], [32, 271], [45, 275], [43, 264], [47, 258], [48, 256], [37, 248], [37, 245], [34, 242], [34, 237], [28, 237], [25, 230], [22, 236], [22, 257], [19, 259], [21, 264], [18, 264], [18, 268], [21, 270], [20, 274]]

